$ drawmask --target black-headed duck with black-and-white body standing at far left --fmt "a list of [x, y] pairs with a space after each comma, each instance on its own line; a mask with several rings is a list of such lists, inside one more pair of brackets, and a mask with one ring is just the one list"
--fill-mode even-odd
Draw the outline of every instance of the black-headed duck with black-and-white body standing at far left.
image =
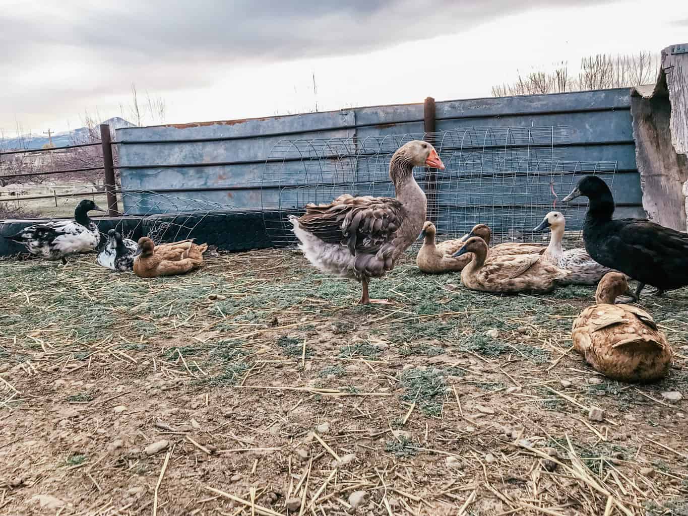
[[22, 244], [32, 255], [67, 264], [67, 257], [79, 252], [90, 252], [100, 244], [98, 226], [88, 216], [89, 211], [105, 211], [92, 200], [85, 199], [76, 205], [74, 220], [54, 220], [34, 224], [6, 239]]

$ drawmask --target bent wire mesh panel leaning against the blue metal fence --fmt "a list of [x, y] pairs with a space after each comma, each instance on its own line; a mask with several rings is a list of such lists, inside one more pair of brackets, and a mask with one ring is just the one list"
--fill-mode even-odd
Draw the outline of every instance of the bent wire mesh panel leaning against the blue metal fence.
[[567, 160], [571, 128], [471, 127], [438, 133], [358, 139], [281, 140], [266, 162], [261, 206], [268, 236], [275, 246], [296, 243], [287, 215], [305, 204], [328, 203], [343, 193], [394, 196], [389, 161], [411, 140], [432, 142], [446, 168], [416, 169], [428, 197], [428, 218], [440, 238], [464, 235], [486, 223], [495, 241], [534, 241], [532, 229], [556, 208], [579, 229], [585, 205], [563, 206], [583, 175], [603, 175], [612, 184], [616, 162]]

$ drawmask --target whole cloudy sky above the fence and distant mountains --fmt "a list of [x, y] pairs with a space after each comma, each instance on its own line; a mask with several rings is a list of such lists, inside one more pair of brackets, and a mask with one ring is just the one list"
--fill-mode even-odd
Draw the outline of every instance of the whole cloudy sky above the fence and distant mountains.
[[688, 2], [0, 0], [0, 28], [12, 136], [131, 119], [132, 84], [166, 122], [489, 96], [517, 69], [688, 43]]

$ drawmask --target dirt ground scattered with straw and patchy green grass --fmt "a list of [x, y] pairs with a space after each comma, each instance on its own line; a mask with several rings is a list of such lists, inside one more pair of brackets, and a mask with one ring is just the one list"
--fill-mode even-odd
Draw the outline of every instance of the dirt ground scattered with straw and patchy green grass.
[[0, 261], [0, 515], [688, 515], [686, 289], [644, 301], [676, 356], [641, 386], [570, 350], [593, 288], [94, 262]]

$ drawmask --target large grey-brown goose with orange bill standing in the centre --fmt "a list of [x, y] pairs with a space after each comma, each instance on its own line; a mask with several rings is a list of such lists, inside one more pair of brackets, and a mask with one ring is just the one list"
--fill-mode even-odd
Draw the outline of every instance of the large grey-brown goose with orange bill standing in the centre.
[[413, 167], [444, 170], [435, 147], [412, 140], [389, 162], [395, 197], [353, 197], [344, 194], [329, 204], [307, 204], [301, 217], [290, 215], [292, 231], [308, 261], [323, 272], [361, 283], [358, 303], [389, 303], [370, 299], [368, 283], [394, 269], [427, 219], [427, 198], [413, 178]]

